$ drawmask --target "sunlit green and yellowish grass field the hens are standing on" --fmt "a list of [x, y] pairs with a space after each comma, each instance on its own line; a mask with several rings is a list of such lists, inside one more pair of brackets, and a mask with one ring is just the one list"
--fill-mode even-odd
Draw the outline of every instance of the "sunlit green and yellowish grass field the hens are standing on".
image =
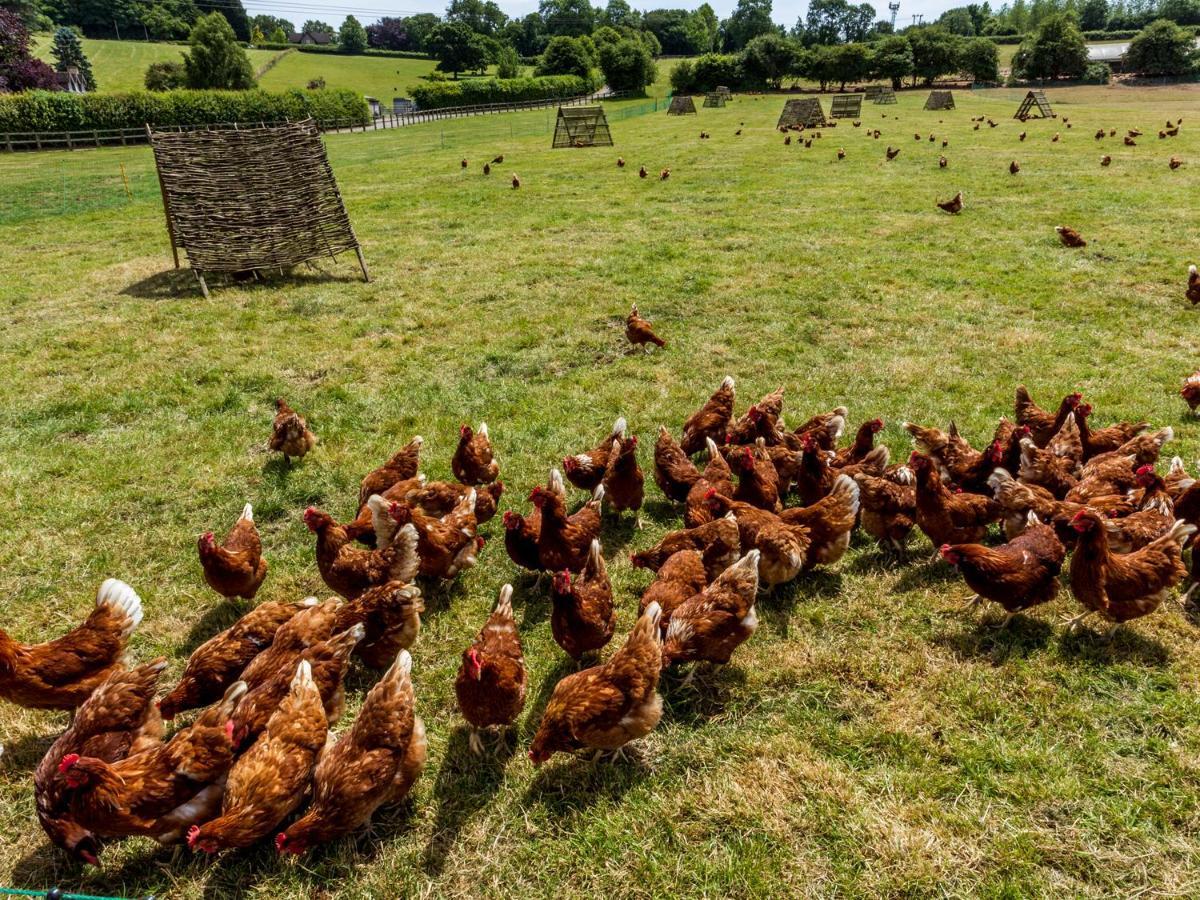
[[[325, 595], [300, 512], [349, 515], [361, 475], [412, 434], [445, 478], [458, 425], [486, 419], [503, 505], [524, 510], [548, 467], [618, 414], [648, 469], [656, 426], [677, 428], [725, 374], [739, 409], [782, 384], [792, 422], [839, 403], [856, 426], [882, 416], [894, 456], [907, 452], [901, 420], [954, 418], [978, 445], [1019, 382], [1045, 404], [1078, 389], [1105, 422], [1172, 425], [1169, 451], [1194, 467], [1200, 432], [1177, 389], [1196, 367], [1183, 282], [1200, 262], [1200, 94], [1050, 91], [1070, 130], [1013, 121], [1018, 91], [959, 92], [948, 113], [922, 112], [924, 97], [868, 106], [864, 127], [842, 122], [808, 150], [774, 131], [778, 97], [614, 116], [612, 150], [548, 150], [541, 113], [330, 137], [374, 280], [347, 257], [215, 286], [208, 301], [170, 270], [146, 149], [0, 157], [4, 628], [59, 632], [102, 578], [121, 577], [148, 613], [133, 655], [166, 654], [176, 674], [240, 611], [204, 586], [196, 536], [228, 528], [246, 499], [271, 564], [260, 599]], [[973, 131], [973, 115], [1001, 125]], [[1153, 137], [1181, 115], [1178, 138]], [[1100, 126], [1147, 137], [1098, 143]], [[914, 132], [949, 139], [947, 169]], [[890, 163], [888, 143], [902, 148]], [[1187, 164], [1170, 172], [1171, 154]], [[640, 164], [671, 179], [640, 180]], [[962, 215], [934, 208], [958, 190]], [[1090, 246], [1063, 248], [1060, 223]], [[626, 352], [632, 301], [665, 352]], [[322, 439], [290, 469], [264, 451], [277, 395]], [[642, 532], [605, 529], [618, 635], [648, 583], [628, 553], [679, 521], [653, 485], [647, 497]], [[485, 533], [480, 565], [427, 590], [414, 682], [430, 764], [372, 835], [299, 863], [130, 841], [103, 870], [79, 870], [32, 812], [30, 773], [66, 719], [5, 706], [0, 884], [172, 898], [1200, 894], [1200, 630], [1177, 606], [1105, 644], [1064, 634], [1063, 593], [997, 632], [960, 610], [968, 592], [925, 562], [924, 538], [907, 564], [856, 539], [839, 565], [760, 605], [726, 671], [696, 692], [666, 680], [642, 764], [556, 757], [535, 770], [524, 750], [569, 666], [499, 520]], [[506, 581], [529, 700], [512, 755], [478, 761], [452, 679]], [[371, 679], [352, 674], [352, 709]]]

